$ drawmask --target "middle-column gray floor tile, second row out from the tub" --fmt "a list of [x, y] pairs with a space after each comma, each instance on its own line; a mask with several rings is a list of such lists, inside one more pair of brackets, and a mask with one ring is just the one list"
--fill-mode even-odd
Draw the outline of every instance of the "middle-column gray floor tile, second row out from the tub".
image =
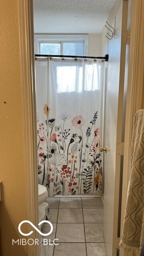
[[58, 212], [58, 223], [83, 223], [82, 209], [61, 208]]

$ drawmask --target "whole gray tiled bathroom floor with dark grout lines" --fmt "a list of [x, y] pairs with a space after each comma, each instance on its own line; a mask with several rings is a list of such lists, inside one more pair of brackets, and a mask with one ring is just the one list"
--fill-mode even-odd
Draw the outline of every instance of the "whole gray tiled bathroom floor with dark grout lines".
[[[106, 256], [101, 198], [48, 198], [53, 232], [47, 238], [58, 245], [40, 245], [40, 256]], [[47, 233], [50, 226], [42, 226]]]

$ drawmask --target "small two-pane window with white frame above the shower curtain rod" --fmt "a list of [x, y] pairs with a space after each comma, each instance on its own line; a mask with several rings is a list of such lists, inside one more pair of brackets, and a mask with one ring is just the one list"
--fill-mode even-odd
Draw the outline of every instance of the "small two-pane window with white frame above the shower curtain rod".
[[88, 35], [35, 35], [35, 53], [88, 56]]

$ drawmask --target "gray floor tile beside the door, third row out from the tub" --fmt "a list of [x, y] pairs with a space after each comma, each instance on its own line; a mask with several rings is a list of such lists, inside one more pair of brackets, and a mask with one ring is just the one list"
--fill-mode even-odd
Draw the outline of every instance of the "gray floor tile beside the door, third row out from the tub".
[[85, 223], [86, 242], [104, 242], [103, 224]]

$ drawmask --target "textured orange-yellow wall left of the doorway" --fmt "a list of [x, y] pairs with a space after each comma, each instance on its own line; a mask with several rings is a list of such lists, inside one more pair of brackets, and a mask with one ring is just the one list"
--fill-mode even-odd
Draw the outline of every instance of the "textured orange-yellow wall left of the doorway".
[[[0, 229], [3, 256], [26, 256], [27, 246], [12, 246], [26, 219], [24, 115], [20, 66], [18, 0], [0, 1]], [[4, 103], [6, 102], [6, 103]], [[26, 228], [24, 228], [26, 231]]]

